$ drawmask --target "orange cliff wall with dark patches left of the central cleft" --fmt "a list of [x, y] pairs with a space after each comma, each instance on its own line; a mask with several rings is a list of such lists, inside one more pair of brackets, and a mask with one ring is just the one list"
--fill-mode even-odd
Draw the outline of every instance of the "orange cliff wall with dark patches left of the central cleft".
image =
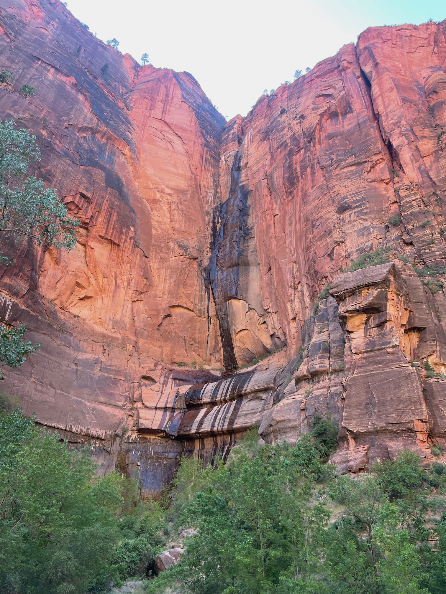
[[2, 247], [9, 321], [42, 343], [7, 383], [43, 422], [102, 435], [160, 361], [220, 365], [203, 269], [224, 118], [191, 75], [139, 67], [60, 2], [2, 4], [2, 65], [36, 89], [1, 90], [2, 119], [36, 134], [38, 174], [82, 222], [71, 252]]

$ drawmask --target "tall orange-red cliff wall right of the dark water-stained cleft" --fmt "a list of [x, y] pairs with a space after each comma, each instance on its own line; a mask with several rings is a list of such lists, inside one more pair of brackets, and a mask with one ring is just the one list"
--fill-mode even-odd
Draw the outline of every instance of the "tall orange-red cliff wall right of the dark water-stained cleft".
[[246, 302], [251, 327], [229, 324], [227, 364], [261, 353], [262, 324], [295, 352], [321, 289], [363, 252], [445, 262], [445, 36], [445, 22], [368, 29], [228, 122], [216, 303]]

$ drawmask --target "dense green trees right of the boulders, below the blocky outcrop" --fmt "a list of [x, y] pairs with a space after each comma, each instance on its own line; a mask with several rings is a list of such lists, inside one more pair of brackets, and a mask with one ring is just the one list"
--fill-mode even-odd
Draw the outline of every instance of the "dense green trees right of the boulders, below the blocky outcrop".
[[[402, 451], [372, 473], [337, 476], [327, 463], [335, 440], [315, 419], [294, 447], [260, 446], [253, 433], [212, 473], [181, 465], [172, 519], [198, 535], [147, 592], [175, 582], [193, 594], [445, 592], [444, 466], [425, 469]], [[181, 475], [193, 475], [193, 496]]]

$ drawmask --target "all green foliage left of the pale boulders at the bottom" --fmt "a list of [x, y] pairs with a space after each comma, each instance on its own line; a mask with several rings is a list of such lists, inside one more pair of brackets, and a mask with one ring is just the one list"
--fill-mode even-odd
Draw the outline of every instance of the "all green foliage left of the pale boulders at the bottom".
[[146, 576], [164, 540], [161, 508], [137, 484], [95, 478], [67, 447], [0, 399], [0, 592], [82, 594]]

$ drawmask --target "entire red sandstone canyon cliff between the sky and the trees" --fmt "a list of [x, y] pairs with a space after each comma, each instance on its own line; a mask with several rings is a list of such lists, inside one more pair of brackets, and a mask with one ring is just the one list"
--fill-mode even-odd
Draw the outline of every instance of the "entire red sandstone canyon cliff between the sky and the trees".
[[446, 263], [445, 22], [369, 29], [225, 124], [190, 74], [56, 0], [0, 0], [0, 21], [1, 68], [36, 89], [0, 90], [1, 118], [82, 225], [72, 252], [0, 246], [1, 320], [42, 343], [5, 380], [26, 413], [147, 494], [254, 424], [295, 441], [331, 413], [353, 472], [446, 440], [444, 292], [401, 262], [341, 273], [385, 246]]

